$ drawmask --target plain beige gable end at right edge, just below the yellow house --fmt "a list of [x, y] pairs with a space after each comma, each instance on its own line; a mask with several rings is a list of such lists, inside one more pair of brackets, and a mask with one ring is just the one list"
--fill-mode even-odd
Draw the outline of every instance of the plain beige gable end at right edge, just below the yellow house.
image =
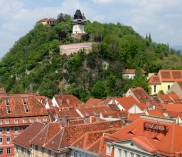
[[175, 92], [182, 99], [182, 81], [175, 81], [167, 93]]

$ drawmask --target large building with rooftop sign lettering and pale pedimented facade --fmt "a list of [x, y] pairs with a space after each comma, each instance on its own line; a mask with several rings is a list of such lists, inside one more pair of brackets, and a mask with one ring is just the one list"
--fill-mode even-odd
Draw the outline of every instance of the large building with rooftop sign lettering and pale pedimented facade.
[[[142, 115], [130, 125], [111, 136], [115, 141], [106, 142], [102, 156], [181, 156], [182, 127], [174, 120]], [[111, 147], [113, 149], [111, 149]], [[113, 151], [113, 152], [112, 152]]]

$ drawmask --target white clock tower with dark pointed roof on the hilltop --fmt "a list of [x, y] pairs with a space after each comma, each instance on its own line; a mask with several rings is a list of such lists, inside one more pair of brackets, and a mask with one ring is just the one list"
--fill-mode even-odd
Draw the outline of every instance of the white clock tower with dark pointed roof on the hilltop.
[[84, 25], [86, 23], [86, 18], [84, 14], [81, 14], [81, 11], [78, 9], [75, 12], [73, 20], [71, 21], [73, 25], [73, 34], [83, 34], [84, 32]]

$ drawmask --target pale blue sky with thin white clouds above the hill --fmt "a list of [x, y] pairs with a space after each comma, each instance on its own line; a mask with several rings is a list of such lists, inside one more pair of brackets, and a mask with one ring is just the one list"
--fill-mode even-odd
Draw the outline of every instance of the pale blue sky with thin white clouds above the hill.
[[60, 13], [131, 26], [157, 43], [182, 46], [182, 0], [0, 0], [0, 58], [42, 18]]

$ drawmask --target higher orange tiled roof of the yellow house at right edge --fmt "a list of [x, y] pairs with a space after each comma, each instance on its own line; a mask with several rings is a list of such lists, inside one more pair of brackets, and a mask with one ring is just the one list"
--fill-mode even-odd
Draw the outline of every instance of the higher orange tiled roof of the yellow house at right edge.
[[159, 76], [162, 82], [182, 80], [182, 70], [160, 70]]

